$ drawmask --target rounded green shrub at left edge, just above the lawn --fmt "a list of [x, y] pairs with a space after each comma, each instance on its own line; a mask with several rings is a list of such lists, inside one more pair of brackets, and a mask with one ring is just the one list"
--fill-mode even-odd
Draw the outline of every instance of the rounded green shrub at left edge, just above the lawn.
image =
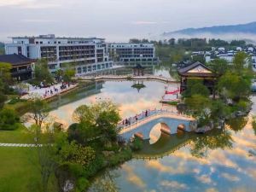
[[0, 112], [0, 130], [15, 130], [18, 128], [20, 118], [15, 110], [3, 108]]

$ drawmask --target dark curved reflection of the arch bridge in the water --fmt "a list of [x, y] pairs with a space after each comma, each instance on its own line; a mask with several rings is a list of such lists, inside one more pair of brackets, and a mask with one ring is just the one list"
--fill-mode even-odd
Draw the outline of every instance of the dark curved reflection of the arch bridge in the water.
[[195, 133], [186, 131], [178, 131], [173, 135], [161, 132], [160, 139], [154, 144], [150, 144], [149, 140], [143, 140], [143, 147], [134, 155], [134, 158], [158, 159], [164, 157], [189, 144], [194, 137], [196, 137]]

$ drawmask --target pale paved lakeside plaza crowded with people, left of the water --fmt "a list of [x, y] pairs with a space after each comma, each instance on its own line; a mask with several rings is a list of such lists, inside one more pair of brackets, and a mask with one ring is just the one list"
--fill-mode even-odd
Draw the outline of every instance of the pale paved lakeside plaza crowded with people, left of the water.
[[61, 85], [62, 84], [55, 84], [55, 85], [51, 85], [49, 87], [41, 88], [41, 89], [30, 87], [28, 94], [26, 94], [25, 96], [21, 96], [21, 99], [26, 99], [26, 100], [35, 99], [35, 98], [39, 98], [43, 100], [49, 99], [53, 96], [57, 96], [68, 90], [72, 90], [73, 88], [78, 86], [78, 84], [70, 84], [70, 86], [66, 84], [66, 87], [64, 89], [61, 89]]

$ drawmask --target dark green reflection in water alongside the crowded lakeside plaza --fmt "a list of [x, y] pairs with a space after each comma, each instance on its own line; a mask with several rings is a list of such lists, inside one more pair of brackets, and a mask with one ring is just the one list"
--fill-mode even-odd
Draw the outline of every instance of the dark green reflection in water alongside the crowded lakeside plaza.
[[103, 84], [104, 82], [98, 81], [89, 85], [81, 85], [77, 90], [73, 90], [64, 96], [58, 96], [53, 102], [50, 102], [50, 107], [52, 109], [60, 108], [61, 106], [84, 99], [87, 96], [101, 93]]

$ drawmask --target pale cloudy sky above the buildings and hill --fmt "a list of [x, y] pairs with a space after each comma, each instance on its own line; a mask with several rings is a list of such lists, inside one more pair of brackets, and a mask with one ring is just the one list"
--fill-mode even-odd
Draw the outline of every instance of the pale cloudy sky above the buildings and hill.
[[54, 33], [127, 42], [256, 20], [255, 0], [0, 0], [0, 40]]

